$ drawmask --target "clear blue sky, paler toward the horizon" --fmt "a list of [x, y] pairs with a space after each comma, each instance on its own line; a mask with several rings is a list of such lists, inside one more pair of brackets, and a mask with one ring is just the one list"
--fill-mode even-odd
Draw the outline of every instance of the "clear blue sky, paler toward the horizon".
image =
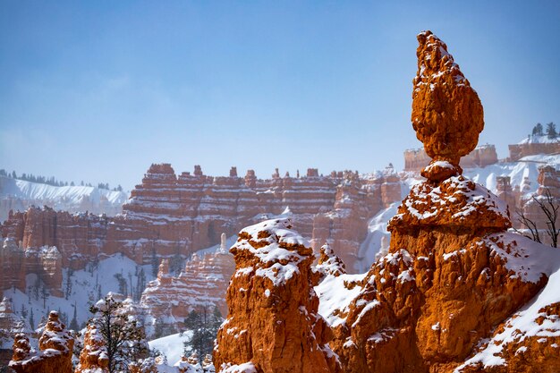
[[0, 0], [0, 168], [127, 190], [162, 162], [402, 169], [421, 30], [479, 93], [479, 144], [560, 127], [557, 1]]

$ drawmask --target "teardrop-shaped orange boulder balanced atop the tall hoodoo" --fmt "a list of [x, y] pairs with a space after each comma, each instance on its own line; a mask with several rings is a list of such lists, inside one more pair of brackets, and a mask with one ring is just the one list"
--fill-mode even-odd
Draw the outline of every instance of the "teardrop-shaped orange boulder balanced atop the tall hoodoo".
[[418, 72], [412, 91], [412, 127], [428, 156], [459, 165], [484, 128], [479, 96], [431, 31], [418, 35]]

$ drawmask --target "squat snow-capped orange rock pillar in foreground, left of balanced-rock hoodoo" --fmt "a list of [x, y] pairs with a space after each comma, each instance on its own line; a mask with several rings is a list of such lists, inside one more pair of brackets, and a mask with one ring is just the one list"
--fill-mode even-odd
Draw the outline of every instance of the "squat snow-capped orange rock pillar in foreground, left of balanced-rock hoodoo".
[[290, 219], [243, 229], [230, 251], [236, 272], [227, 291], [230, 314], [217, 335], [217, 369], [334, 371], [330, 329], [317, 313], [314, 256]]

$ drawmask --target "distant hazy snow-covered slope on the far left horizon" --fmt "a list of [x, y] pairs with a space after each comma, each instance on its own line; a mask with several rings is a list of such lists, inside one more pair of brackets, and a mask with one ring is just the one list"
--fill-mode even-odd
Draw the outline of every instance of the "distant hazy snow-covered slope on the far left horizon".
[[121, 212], [127, 198], [123, 191], [87, 186], [56, 187], [0, 176], [0, 221], [7, 218], [10, 209], [23, 210], [31, 205], [113, 216]]

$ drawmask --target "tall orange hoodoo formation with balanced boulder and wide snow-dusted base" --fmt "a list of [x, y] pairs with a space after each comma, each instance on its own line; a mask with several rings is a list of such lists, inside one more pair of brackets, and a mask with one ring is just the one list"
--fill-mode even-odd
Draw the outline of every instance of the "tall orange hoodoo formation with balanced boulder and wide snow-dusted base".
[[389, 252], [335, 327], [331, 345], [347, 372], [452, 372], [550, 274], [547, 249], [505, 232], [505, 203], [461, 175], [482, 108], [445, 44], [429, 31], [419, 42], [412, 123], [433, 160], [389, 222]]

